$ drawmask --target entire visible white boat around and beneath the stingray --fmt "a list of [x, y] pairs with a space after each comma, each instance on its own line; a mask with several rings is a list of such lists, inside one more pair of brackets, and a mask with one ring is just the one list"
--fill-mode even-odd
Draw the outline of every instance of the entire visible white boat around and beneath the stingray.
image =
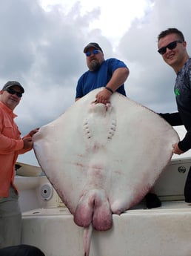
[[[142, 201], [121, 216], [113, 228], [96, 232], [90, 256], [190, 256], [191, 204], [184, 202], [184, 183], [191, 159], [172, 160], [158, 182], [157, 209]], [[22, 243], [38, 246], [46, 256], [82, 256], [83, 228], [64, 207], [46, 177], [16, 177], [23, 211]]]

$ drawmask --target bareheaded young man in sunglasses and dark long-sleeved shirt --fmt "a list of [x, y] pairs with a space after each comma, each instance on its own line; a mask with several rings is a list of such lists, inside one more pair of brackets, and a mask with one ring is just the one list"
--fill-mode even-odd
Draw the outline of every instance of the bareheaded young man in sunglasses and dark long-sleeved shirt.
[[[164, 62], [175, 70], [174, 87], [178, 112], [161, 114], [172, 126], [184, 125], [185, 137], [173, 145], [174, 154], [183, 154], [191, 148], [191, 58], [187, 53], [187, 42], [177, 28], [169, 28], [158, 35], [158, 53]], [[184, 186], [184, 197], [191, 203], [191, 168]]]

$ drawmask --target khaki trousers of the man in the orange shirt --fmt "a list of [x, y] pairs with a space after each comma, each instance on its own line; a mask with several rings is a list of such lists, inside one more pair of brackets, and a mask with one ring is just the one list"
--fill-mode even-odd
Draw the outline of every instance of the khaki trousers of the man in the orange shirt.
[[0, 197], [0, 248], [21, 243], [19, 197], [10, 187], [9, 197]]

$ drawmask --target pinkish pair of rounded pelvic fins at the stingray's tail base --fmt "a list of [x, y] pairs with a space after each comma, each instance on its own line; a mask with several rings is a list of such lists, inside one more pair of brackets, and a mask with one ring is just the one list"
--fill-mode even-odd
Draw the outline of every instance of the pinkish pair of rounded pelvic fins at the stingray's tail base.
[[74, 222], [83, 227], [92, 223], [93, 228], [100, 231], [111, 228], [112, 212], [104, 190], [91, 189], [83, 194], [74, 214]]

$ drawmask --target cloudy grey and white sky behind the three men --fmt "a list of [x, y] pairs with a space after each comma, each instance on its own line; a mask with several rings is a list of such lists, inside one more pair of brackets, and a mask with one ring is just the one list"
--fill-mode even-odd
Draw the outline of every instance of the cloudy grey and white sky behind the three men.
[[[127, 64], [131, 99], [156, 112], [176, 111], [175, 73], [157, 53], [157, 36], [177, 27], [190, 53], [190, 10], [190, 0], [1, 0], [0, 82], [18, 80], [25, 88], [15, 110], [22, 135], [73, 104], [88, 42], [98, 42], [105, 59]], [[33, 151], [19, 161], [37, 163]]]

